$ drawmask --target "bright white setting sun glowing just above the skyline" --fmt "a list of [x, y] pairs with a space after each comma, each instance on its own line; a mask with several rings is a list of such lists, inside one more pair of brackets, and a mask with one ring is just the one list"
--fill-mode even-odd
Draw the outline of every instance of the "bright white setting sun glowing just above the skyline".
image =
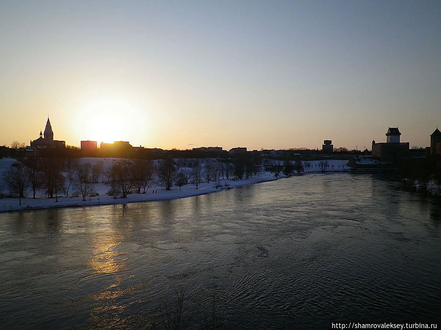
[[[150, 121], [133, 102], [118, 98], [97, 98], [76, 111], [78, 140], [113, 143], [147, 141]], [[140, 142], [141, 143], [141, 142]]]

